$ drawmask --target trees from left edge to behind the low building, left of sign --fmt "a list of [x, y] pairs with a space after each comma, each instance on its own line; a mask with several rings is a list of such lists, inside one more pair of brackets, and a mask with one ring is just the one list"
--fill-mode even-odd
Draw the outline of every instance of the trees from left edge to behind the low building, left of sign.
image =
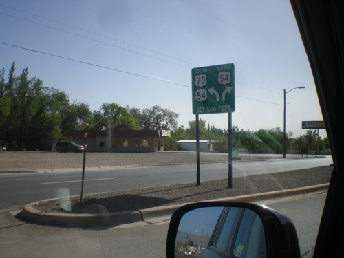
[[15, 75], [12, 63], [6, 79], [0, 71], [0, 144], [9, 150], [51, 149], [52, 142], [68, 140], [67, 130], [175, 130], [179, 115], [159, 105], [146, 109], [103, 103], [92, 111], [87, 103], [69, 100], [53, 87], [45, 87], [39, 78], [29, 78], [28, 68]]

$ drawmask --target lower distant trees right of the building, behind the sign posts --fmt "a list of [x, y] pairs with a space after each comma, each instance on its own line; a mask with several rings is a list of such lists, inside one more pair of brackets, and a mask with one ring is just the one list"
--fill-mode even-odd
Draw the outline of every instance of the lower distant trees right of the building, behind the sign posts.
[[[200, 119], [200, 140], [211, 140], [213, 151], [228, 152], [228, 129], [218, 129], [210, 125], [206, 120]], [[196, 139], [196, 122], [190, 121], [189, 128], [178, 127], [171, 133], [172, 137], [165, 140], [169, 149], [177, 150], [175, 143], [177, 140]], [[259, 129], [257, 131], [248, 131], [233, 126], [231, 130], [232, 149], [248, 153], [276, 153], [283, 152], [283, 131], [280, 127], [272, 129]], [[292, 132], [286, 133], [286, 148], [289, 153], [298, 154], [330, 154], [328, 140], [318, 137], [316, 130], [305, 131], [302, 136], [293, 137]]]

